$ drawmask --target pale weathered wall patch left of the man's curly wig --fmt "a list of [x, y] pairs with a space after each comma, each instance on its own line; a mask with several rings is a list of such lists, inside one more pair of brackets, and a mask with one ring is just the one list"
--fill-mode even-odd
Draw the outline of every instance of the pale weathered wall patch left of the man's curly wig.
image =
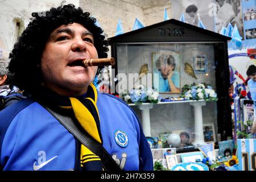
[[[30, 21], [32, 12], [48, 10], [50, 7], [59, 6], [61, 2], [61, 0], [0, 1], [0, 48], [3, 49], [3, 56], [9, 56], [18, 38], [17, 23], [20, 30], [23, 30]], [[66, 3], [79, 6], [79, 0], [67, 0]]]

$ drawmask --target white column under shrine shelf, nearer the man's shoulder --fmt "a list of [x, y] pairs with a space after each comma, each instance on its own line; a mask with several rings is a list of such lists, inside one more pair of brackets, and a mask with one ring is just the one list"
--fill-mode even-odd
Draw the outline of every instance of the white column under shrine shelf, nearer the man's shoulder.
[[142, 113], [142, 129], [146, 137], [151, 137], [150, 127], [150, 109], [153, 108], [153, 104], [138, 105], [138, 108]]

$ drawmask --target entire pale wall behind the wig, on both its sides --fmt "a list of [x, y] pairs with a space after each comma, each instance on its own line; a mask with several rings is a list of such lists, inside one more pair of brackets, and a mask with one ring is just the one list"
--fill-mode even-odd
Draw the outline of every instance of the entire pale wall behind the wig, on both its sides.
[[[18, 37], [17, 21], [20, 20], [21, 30], [30, 21], [34, 11], [48, 10], [61, 4], [61, 0], [26, 0], [0, 1], [0, 48], [3, 55], [8, 56]], [[164, 8], [171, 18], [171, 1], [168, 0], [68, 0], [89, 11], [97, 19], [108, 38], [115, 35], [118, 18], [121, 18], [123, 31], [129, 32], [133, 28], [135, 18], [141, 20], [144, 26], [163, 21]]]

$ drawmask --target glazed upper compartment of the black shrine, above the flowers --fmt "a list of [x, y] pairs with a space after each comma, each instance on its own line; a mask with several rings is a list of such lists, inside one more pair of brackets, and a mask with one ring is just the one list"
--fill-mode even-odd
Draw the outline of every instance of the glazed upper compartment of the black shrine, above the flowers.
[[[167, 57], [166, 65], [163, 63], [164, 57]], [[134, 84], [136, 82], [142, 84], [143, 80], [138, 77], [142, 74], [143, 68], [144, 72], [152, 73], [152, 78], [147, 77], [152, 79], [152, 82], [148, 80], [144, 85], [154, 86], [155, 90], [162, 94], [180, 93], [183, 85], [192, 82], [207, 82], [216, 88], [214, 43], [117, 44], [116, 59], [118, 73], [135, 75]], [[173, 71], [174, 89], [168, 86], [167, 79], [161, 76], [161, 68], [159, 68], [166, 67], [167, 70], [169, 65]], [[117, 90], [117, 92], [122, 91], [124, 90]]]

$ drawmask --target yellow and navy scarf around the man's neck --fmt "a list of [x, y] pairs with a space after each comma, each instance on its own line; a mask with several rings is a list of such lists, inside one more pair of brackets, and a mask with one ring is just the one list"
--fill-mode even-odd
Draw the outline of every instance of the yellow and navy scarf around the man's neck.
[[[51, 105], [59, 106], [62, 109], [73, 110], [77, 121], [82, 128], [97, 142], [102, 144], [100, 131], [100, 117], [97, 108], [97, 90], [93, 84], [88, 86], [86, 96], [82, 98], [52, 96], [44, 94]], [[82, 170], [102, 170], [101, 159], [89, 148], [81, 144], [81, 168]]]

